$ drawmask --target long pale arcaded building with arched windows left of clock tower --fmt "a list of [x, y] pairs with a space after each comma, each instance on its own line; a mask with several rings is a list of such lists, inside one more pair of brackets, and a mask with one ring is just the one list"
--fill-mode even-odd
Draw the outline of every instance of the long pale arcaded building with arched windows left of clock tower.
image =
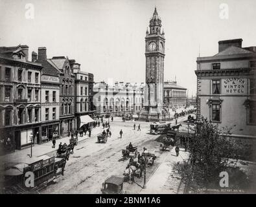
[[139, 113], [143, 106], [144, 87], [143, 83], [115, 82], [115, 85], [108, 85], [105, 82], [95, 83], [93, 103], [97, 110], [96, 114], [118, 116]]

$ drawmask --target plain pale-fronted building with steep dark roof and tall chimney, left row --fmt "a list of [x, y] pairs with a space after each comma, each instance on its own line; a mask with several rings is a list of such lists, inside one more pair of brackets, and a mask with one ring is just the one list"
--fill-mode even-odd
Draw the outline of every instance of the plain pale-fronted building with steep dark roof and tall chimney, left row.
[[32, 52], [32, 61], [41, 63], [41, 142], [60, 138], [60, 71], [47, 59], [46, 48]]

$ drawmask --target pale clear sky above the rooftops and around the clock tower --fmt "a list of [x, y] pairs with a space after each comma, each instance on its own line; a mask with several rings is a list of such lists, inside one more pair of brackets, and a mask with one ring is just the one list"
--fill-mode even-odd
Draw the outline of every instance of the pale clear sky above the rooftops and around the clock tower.
[[[29, 3], [32, 19], [26, 17]], [[227, 19], [220, 17], [222, 3]], [[142, 83], [146, 28], [155, 6], [166, 38], [165, 80], [176, 77], [189, 96], [196, 95], [199, 54], [215, 55], [224, 39], [256, 46], [255, 0], [0, 0], [0, 46], [28, 45], [29, 60], [33, 50], [46, 47], [47, 58], [75, 59], [95, 82]]]

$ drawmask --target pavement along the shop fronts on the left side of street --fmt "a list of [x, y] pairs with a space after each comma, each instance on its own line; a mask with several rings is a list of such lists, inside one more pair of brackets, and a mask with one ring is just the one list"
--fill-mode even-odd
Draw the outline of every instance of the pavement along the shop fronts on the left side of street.
[[[102, 129], [101, 125], [100, 125], [100, 127], [93, 128], [91, 131], [91, 138], [95, 137], [102, 131], [103, 131], [103, 129]], [[70, 138], [71, 138], [71, 136], [66, 136], [64, 138], [57, 139], [55, 148], [52, 148], [51, 141], [46, 142], [44, 144], [35, 144], [34, 146], [32, 146], [32, 158], [40, 157], [41, 155], [45, 155], [47, 153], [51, 153], [52, 151], [55, 151], [56, 149], [58, 149], [58, 145], [60, 144], [60, 142], [62, 142], [62, 144], [64, 144], [64, 143], [69, 144]], [[83, 135], [82, 137], [80, 137], [78, 135], [78, 142], [81, 142], [82, 140], [86, 140], [87, 138], [89, 138], [88, 133], [87, 133], [87, 135]], [[27, 147], [27, 148], [21, 149], [21, 150], [16, 150], [13, 153], [8, 153], [6, 155], [2, 155], [0, 157], [0, 160], [2, 163], [8, 163], [8, 164], [17, 164], [20, 162], [26, 162], [31, 159], [30, 158], [30, 150], [31, 150], [30, 147]]]

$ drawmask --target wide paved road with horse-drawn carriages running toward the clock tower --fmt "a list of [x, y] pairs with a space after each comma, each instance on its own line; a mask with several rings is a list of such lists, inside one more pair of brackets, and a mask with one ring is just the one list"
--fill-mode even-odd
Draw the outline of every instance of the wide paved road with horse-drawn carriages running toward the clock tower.
[[[184, 117], [185, 119], [185, 117]], [[180, 120], [181, 121], [181, 120]], [[130, 142], [138, 146], [138, 151], [147, 147], [149, 152], [156, 153], [157, 160], [154, 166], [147, 169], [147, 179], [156, 170], [161, 162], [161, 156], [169, 152], [159, 151], [159, 135], [149, 134], [150, 123], [135, 122], [141, 124], [141, 131], [133, 130], [134, 122], [111, 122], [111, 138], [106, 144], [97, 143], [97, 137], [92, 136], [79, 142], [75, 147], [75, 153], [67, 161], [65, 175], [58, 179], [56, 184], [47, 186], [41, 193], [101, 193], [102, 182], [111, 175], [122, 176], [128, 160], [122, 160], [121, 149]], [[124, 134], [120, 138], [119, 131]], [[55, 152], [54, 152], [55, 153]], [[48, 155], [54, 155], [49, 153]], [[134, 184], [124, 184], [127, 193], [138, 193], [143, 186], [143, 178], [135, 179]]]

